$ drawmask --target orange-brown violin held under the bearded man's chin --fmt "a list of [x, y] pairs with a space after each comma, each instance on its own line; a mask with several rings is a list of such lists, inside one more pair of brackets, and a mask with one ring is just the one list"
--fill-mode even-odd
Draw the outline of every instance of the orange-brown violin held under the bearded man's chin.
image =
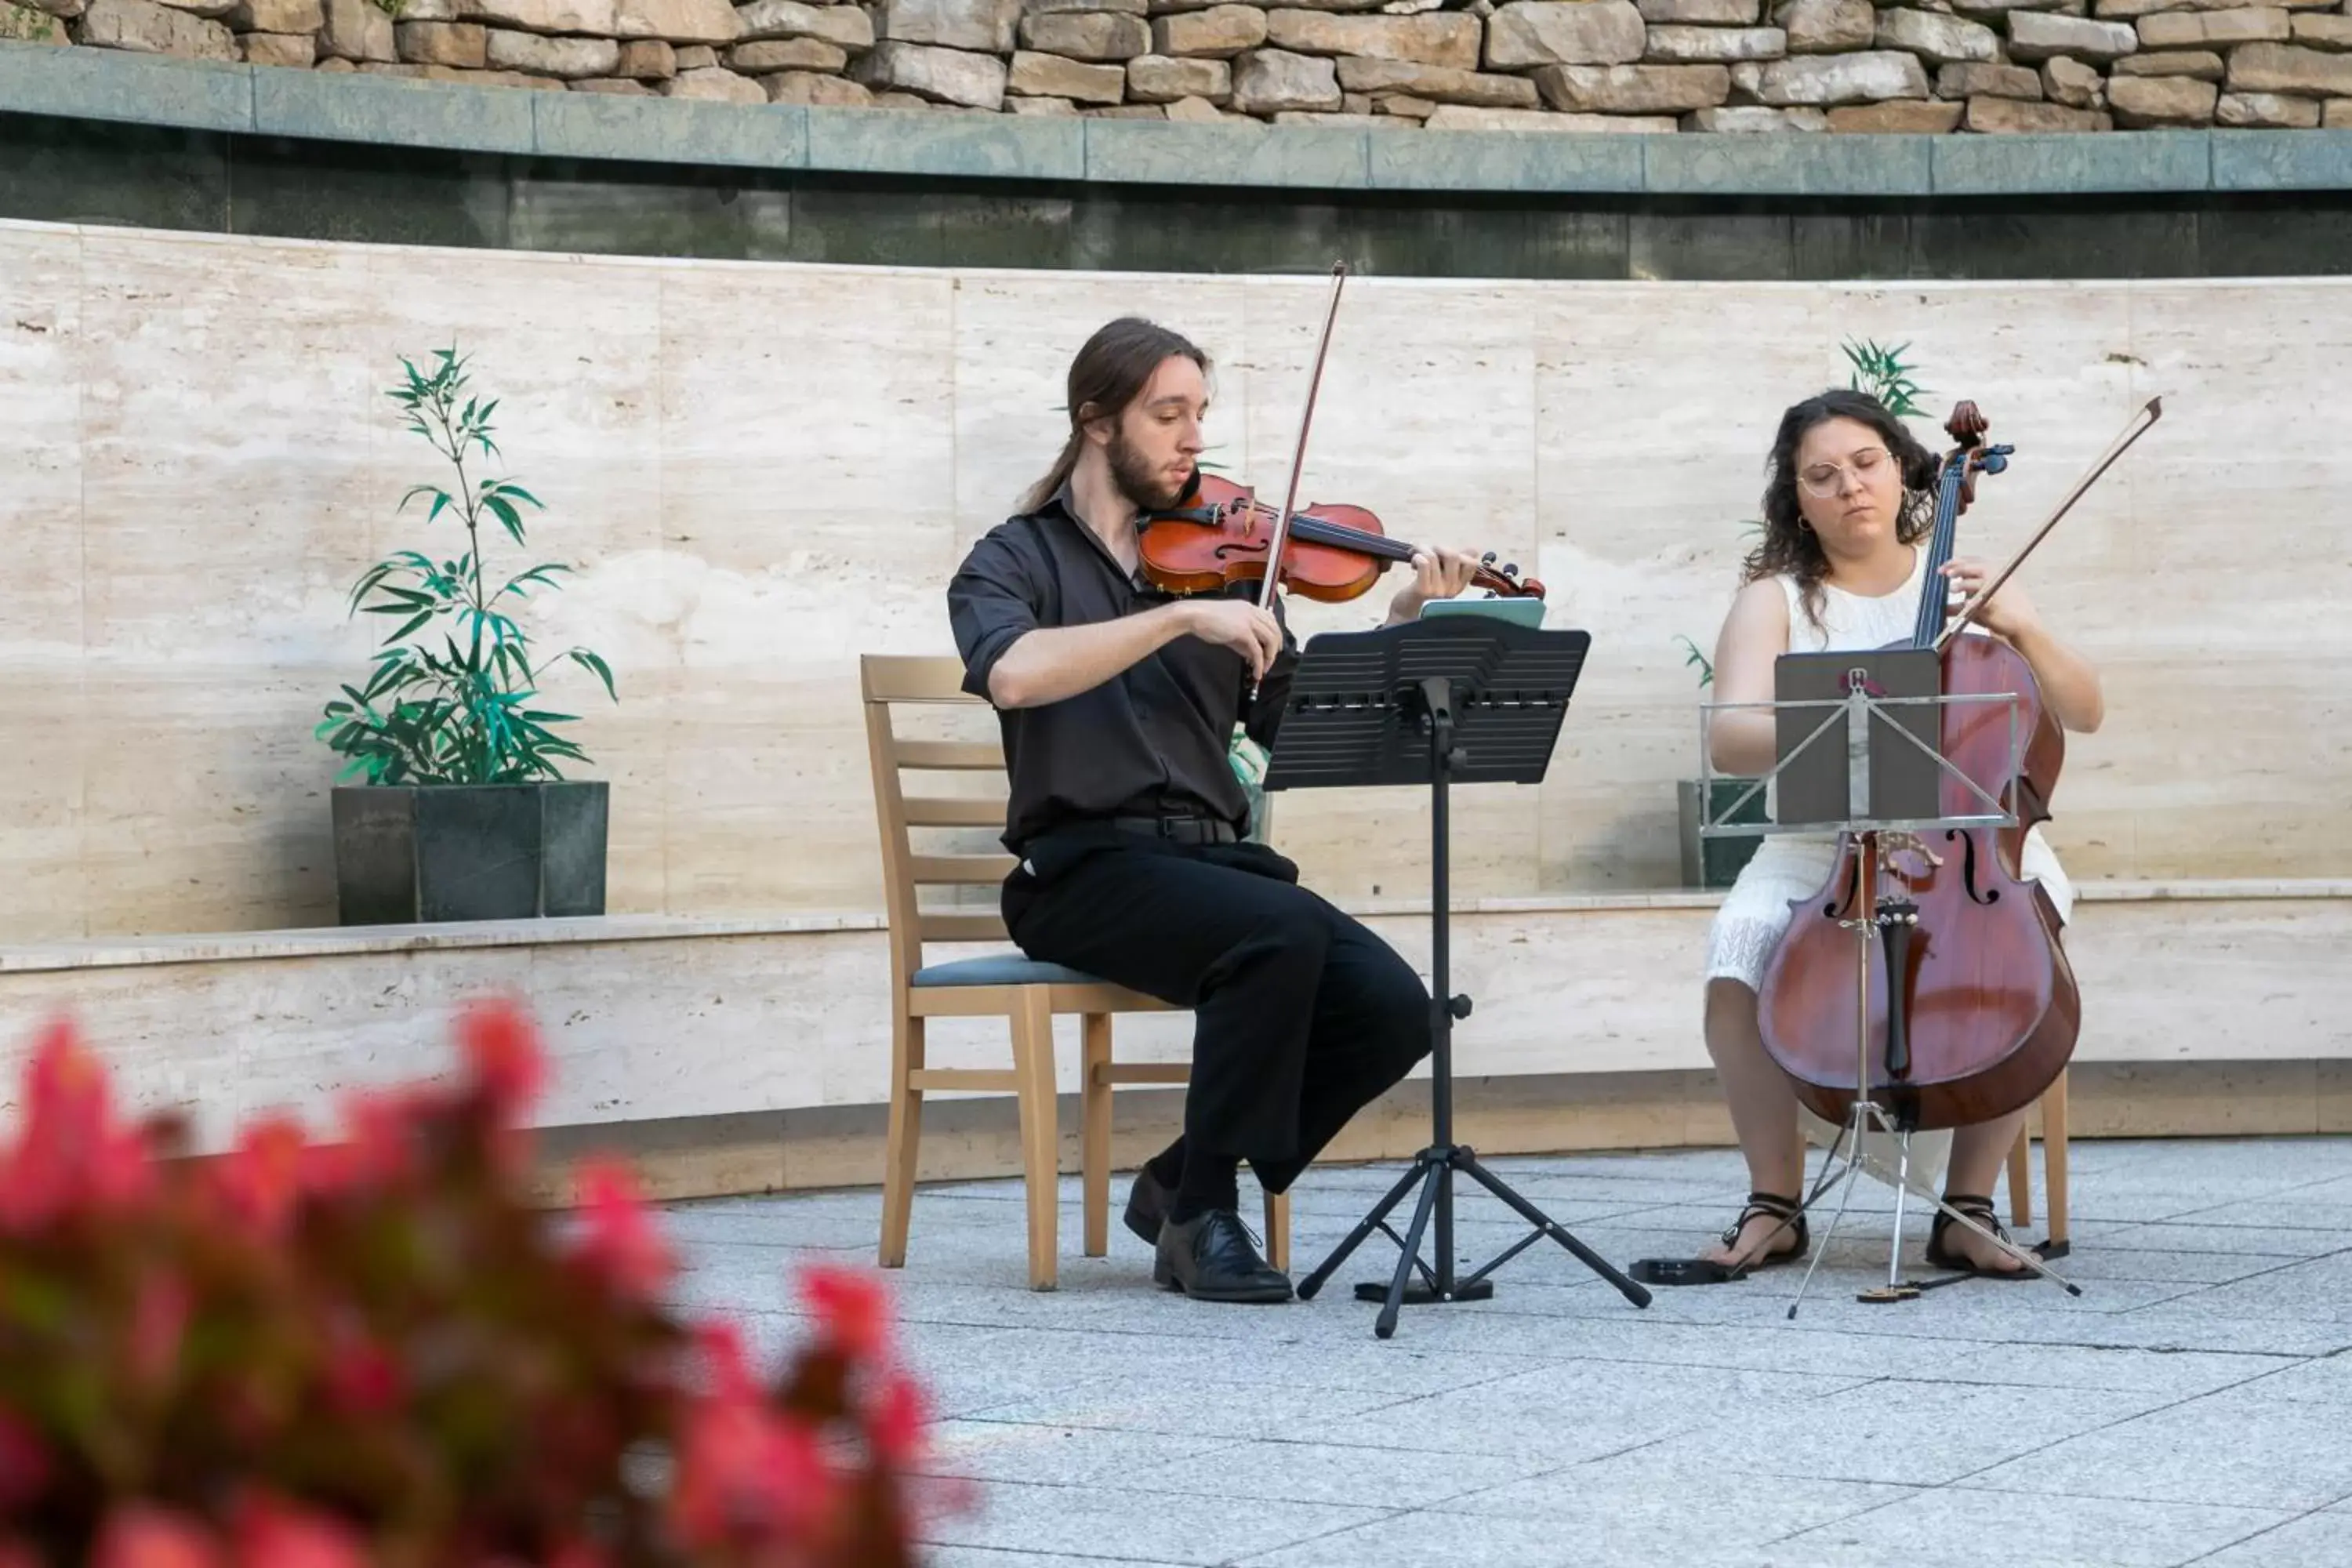
[[[1247, 484], [1192, 475], [1176, 505], [1136, 520], [1143, 574], [1164, 592], [1216, 592], [1232, 583], [1263, 583], [1275, 550], [1279, 512]], [[1371, 590], [1390, 562], [1414, 559], [1414, 545], [1390, 538], [1362, 505], [1310, 503], [1289, 520], [1282, 588], [1327, 604]], [[1472, 588], [1489, 597], [1543, 597], [1543, 583], [1519, 567], [1479, 564]]]

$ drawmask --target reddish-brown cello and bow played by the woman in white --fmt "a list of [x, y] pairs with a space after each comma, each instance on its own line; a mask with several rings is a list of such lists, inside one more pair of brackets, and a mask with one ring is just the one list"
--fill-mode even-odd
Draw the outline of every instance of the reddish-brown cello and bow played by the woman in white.
[[[1976, 498], [1976, 477], [2002, 473], [2011, 449], [1985, 447], [1987, 423], [1973, 402], [1962, 402], [1945, 423], [1955, 447], [1938, 463], [1929, 585], [1910, 642], [1889, 646], [1936, 649], [1947, 698], [2004, 698], [1938, 708], [1945, 759], [1938, 813], [1994, 816], [1990, 799], [2009, 820], [1931, 830], [1891, 851], [1877, 832], [1842, 832], [1820, 891], [1790, 905], [1757, 992], [1757, 1027], [1797, 1100], [1825, 1121], [1844, 1124], [1851, 1114], [1865, 1060], [1870, 1098], [1893, 1124], [1933, 1131], [2032, 1105], [2074, 1056], [2082, 992], [2058, 940], [2058, 910], [2039, 882], [2020, 875], [2025, 835], [2051, 820], [2065, 733], [2023, 654], [1999, 637], [1962, 632], [2159, 414], [2154, 397], [2133, 414], [2126, 435], [2049, 522], [1957, 611], [1943, 590], [1955, 524]], [[2011, 717], [2025, 738], [2023, 759]], [[1856, 926], [1875, 926], [1879, 940], [1858, 943]], [[1858, 945], [1867, 959], [1858, 959]], [[1856, 1039], [1860, 961], [1870, 966], [1865, 1041]]]

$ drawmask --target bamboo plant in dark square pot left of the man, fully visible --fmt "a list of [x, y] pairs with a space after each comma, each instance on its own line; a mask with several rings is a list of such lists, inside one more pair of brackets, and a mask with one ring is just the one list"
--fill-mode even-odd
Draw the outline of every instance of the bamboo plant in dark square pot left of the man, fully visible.
[[[557, 733], [576, 715], [539, 708], [546, 663], [515, 621], [529, 595], [553, 592], [569, 567], [541, 562], [506, 581], [492, 576], [485, 545], [501, 531], [522, 545], [522, 508], [541, 505], [513, 480], [468, 470], [468, 461], [503, 456], [492, 440], [499, 400], [468, 393], [454, 348], [428, 371], [400, 364], [407, 381], [386, 395], [452, 468], [449, 484], [416, 484], [400, 510], [430, 501], [426, 527], [449, 517], [466, 538], [445, 559], [395, 550], [350, 590], [353, 614], [397, 625], [367, 684], [346, 684], [315, 731], [348, 759], [332, 792], [339, 919], [602, 914], [609, 792], [604, 780], [562, 776], [562, 762], [588, 762]], [[600, 656], [567, 649], [560, 658], [619, 701]], [[341, 783], [353, 778], [362, 783]]]

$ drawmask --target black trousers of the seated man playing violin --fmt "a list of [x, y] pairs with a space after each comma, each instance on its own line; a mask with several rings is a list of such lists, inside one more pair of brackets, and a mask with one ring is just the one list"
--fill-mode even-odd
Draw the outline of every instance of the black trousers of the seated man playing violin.
[[1263, 844], [1047, 835], [1004, 924], [1033, 959], [1192, 1009], [1185, 1152], [1247, 1159], [1268, 1192], [1430, 1053], [1421, 976]]

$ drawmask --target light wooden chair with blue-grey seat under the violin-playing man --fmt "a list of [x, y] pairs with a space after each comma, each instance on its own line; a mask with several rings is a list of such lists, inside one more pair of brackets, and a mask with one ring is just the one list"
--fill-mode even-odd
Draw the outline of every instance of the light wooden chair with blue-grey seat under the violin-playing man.
[[[908, 741], [891, 726], [903, 703], [964, 703], [985, 708], [962, 689], [955, 658], [868, 654], [858, 661], [866, 693], [866, 748], [873, 764], [875, 818], [882, 827], [882, 879], [889, 900], [891, 1070], [889, 1152], [882, 1178], [884, 1269], [906, 1265], [915, 1206], [915, 1154], [922, 1140], [922, 1095], [931, 1088], [1011, 1091], [1021, 1110], [1021, 1175], [1028, 1185], [1030, 1288], [1051, 1291], [1058, 1267], [1058, 1128], [1054, 1100], [1054, 1018], [1077, 1013], [1080, 1025], [1080, 1175], [1087, 1255], [1110, 1251], [1110, 1091], [1117, 1084], [1183, 1084], [1183, 1063], [1117, 1065], [1110, 1056], [1112, 1013], [1174, 1011], [1061, 964], [1037, 964], [1018, 950], [924, 964], [924, 943], [1007, 943], [1004, 917], [993, 907], [927, 910], [922, 886], [997, 886], [1011, 872], [1007, 853], [917, 853], [915, 827], [1004, 827], [1004, 790], [974, 795], [908, 795], [901, 773], [993, 773], [1002, 785], [1004, 750], [990, 741]], [[1011, 1070], [927, 1067], [924, 1020], [1004, 1018], [1011, 1030]], [[1265, 1197], [1265, 1251], [1289, 1267], [1289, 1197]]]

